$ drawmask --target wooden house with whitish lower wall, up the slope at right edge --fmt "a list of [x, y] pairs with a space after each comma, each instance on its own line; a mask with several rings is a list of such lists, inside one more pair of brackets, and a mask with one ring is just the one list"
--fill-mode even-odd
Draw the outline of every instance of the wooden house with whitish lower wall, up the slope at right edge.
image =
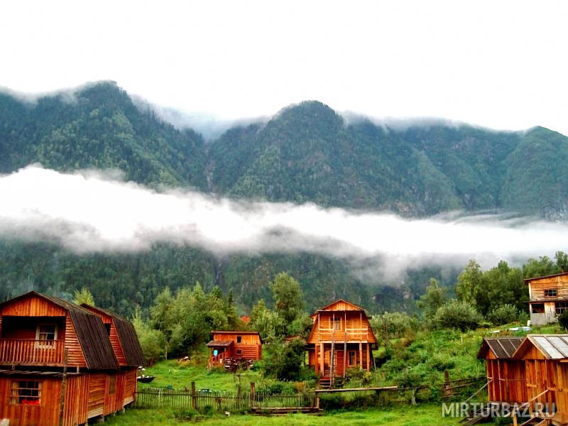
[[568, 309], [568, 272], [528, 278], [530, 323], [548, 324]]

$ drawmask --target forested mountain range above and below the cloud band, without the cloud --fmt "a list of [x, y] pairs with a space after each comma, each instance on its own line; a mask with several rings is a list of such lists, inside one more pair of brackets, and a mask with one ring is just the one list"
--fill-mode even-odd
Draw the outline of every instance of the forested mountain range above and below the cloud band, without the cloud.
[[[503, 209], [563, 219], [568, 212], [568, 138], [537, 127], [503, 132], [416, 124], [405, 129], [345, 121], [320, 102], [283, 109], [263, 124], [235, 126], [204, 143], [190, 129], [141, 109], [111, 82], [72, 96], [23, 102], [0, 94], [0, 173], [29, 163], [55, 170], [118, 168], [150, 187], [195, 187], [229, 197], [315, 202], [425, 217], [448, 210]], [[409, 271], [404, 283], [368, 285], [346, 263], [322, 256], [229, 256], [156, 246], [146, 253], [77, 256], [48, 243], [0, 241], [0, 299], [35, 288], [70, 295], [86, 286], [103, 307], [131, 315], [165, 286], [199, 281], [234, 289], [241, 310], [270, 302], [268, 283], [289, 271], [308, 309], [345, 297], [376, 312], [411, 310], [430, 276]]]

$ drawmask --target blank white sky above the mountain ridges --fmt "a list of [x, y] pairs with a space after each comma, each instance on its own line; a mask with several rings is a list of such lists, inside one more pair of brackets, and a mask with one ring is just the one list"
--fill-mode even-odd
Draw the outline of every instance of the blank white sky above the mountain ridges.
[[221, 119], [318, 99], [568, 134], [568, 1], [11, 1], [0, 86], [115, 80]]

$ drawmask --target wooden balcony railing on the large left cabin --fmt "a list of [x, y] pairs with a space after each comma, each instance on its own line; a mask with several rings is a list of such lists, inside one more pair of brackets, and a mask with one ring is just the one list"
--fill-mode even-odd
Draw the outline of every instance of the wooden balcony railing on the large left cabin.
[[0, 339], [0, 362], [8, 364], [63, 364], [63, 340]]

